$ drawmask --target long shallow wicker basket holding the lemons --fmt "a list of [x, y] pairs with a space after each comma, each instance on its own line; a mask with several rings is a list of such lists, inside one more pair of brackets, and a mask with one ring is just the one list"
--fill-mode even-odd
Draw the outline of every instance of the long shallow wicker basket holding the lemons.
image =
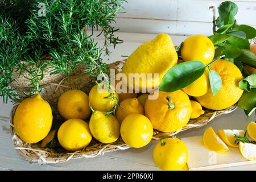
[[[116, 63], [110, 64], [110, 68], [115, 68], [115, 71], [121, 72], [124, 61], [118, 61]], [[56, 105], [60, 95], [66, 92], [69, 89], [80, 89], [85, 93], [89, 93], [90, 88], [92, 88], [93, 82], [92, 78], [90, 78], [86, 73], [81, 73], [80, 75], [69, 77], [69, 82], [67, 79], [63, 78], [63, 80], [54, 81], [52, 83], [48, 83], [44, 85], [41, 96], [44, 100], [48, 101], [49, 104], [53, 107], [55, 118], [59, 118], [60, 115], [57, 113]], [[28, 144], [23, 142], [16, 134], [13, 127], [13, 118], [15, 114], [15, 110], [18, 105], [13, 107], [11, 111], [11, 121], [10, 121], [10, 130], [11, 135], [13, 137], [15, 150], [29, 162], [38, 162], [40, 164], [43, 163], [59, 163], [66, 162], [69, 159], [77, 159], [77, 158], [93, 158], [97, 155], [104, 154], [104, 152], [112, 152], [117, 150], [125, 150], [129, 148], [121, 138], [117, 140], [117, 142], [111, 144], [104, 144], [93, 140], [92, 143], [84, 148], [81, 151], [76, 152], [57, 152], [51, 148], [40, 148], [39, 144]], [[175, 135], [181, 131], [191, 129], [193, 127], [201, 127], [206, 125], [208, 122], [212, 121], [213, 118], [218, 115], [227, 114], [234, 111], [237, 107], [231, 106], [228, 109], [214, 111], [214, 110], [205, 110], [205, 114], [201, 115], [197, 119], [191, 119], [188, 122], [188, 125], [183, 127], [181, 130], [176, 131], [175, 133], [161, 133], [157, 130], [154, 131], [153, 139], [158, 139], [160, 137], [166, 135]]]

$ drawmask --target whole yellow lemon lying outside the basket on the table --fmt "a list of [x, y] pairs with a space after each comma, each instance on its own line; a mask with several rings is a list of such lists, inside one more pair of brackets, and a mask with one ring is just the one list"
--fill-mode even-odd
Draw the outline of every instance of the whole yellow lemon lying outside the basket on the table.
[[188, 160], [188, 148], [178, 138], [166, 138], [156, 143], [153, 150], [155, 165], [165, 171], [183, 169]]

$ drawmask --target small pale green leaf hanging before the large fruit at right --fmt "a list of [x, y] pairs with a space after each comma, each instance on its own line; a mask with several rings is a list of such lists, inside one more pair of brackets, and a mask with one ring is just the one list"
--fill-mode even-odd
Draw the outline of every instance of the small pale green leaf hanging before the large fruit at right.
[[209, 72], [210, 89], [212, 90], [213, 96], [220, 91], [222, 86], [222, 80], [220, 75], [216, 71], [210, 70]]

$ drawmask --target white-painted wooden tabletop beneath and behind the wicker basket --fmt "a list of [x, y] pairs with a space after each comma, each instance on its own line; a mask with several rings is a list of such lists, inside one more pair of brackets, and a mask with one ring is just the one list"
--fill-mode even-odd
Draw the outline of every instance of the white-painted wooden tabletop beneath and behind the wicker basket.
[[[112, 50], [110, 57], [104, 56], [106, 63], [123, 59], [122, 55], [130, 55], [142, 42], [154, 38], [154, 34], [135, 34], [119, 32], [120, 39], [125, 40]], [[180, 44], [185, 36], [171, 36], [175, 45]], [[102, 37], [97, 38], [102, 44]], [[40, 165], [28, 163], [14, 150], [13, 141], [9, 131], [10, 111], [12, 104], [3, 104], [0, 100], [0, 170], [159, 170], [152, 160], [152, 150], [155, 141], [143, 148], [129, 148], [97, 156], [93, 159], [73, 159], [65, 163]], [[199, 129], [191, 129], [177, 135], [177, 137], [189, 137], [203, 135], [207, 127], [218, 129], [246, 129], [250, 121], [255, 120], [255, 115], [246, 118], [242, 110], [237, 109], [233, 113], [214, 118], [207, 126]], [[255, 170], [256, 165], [222, 168], [219, 170]]]

